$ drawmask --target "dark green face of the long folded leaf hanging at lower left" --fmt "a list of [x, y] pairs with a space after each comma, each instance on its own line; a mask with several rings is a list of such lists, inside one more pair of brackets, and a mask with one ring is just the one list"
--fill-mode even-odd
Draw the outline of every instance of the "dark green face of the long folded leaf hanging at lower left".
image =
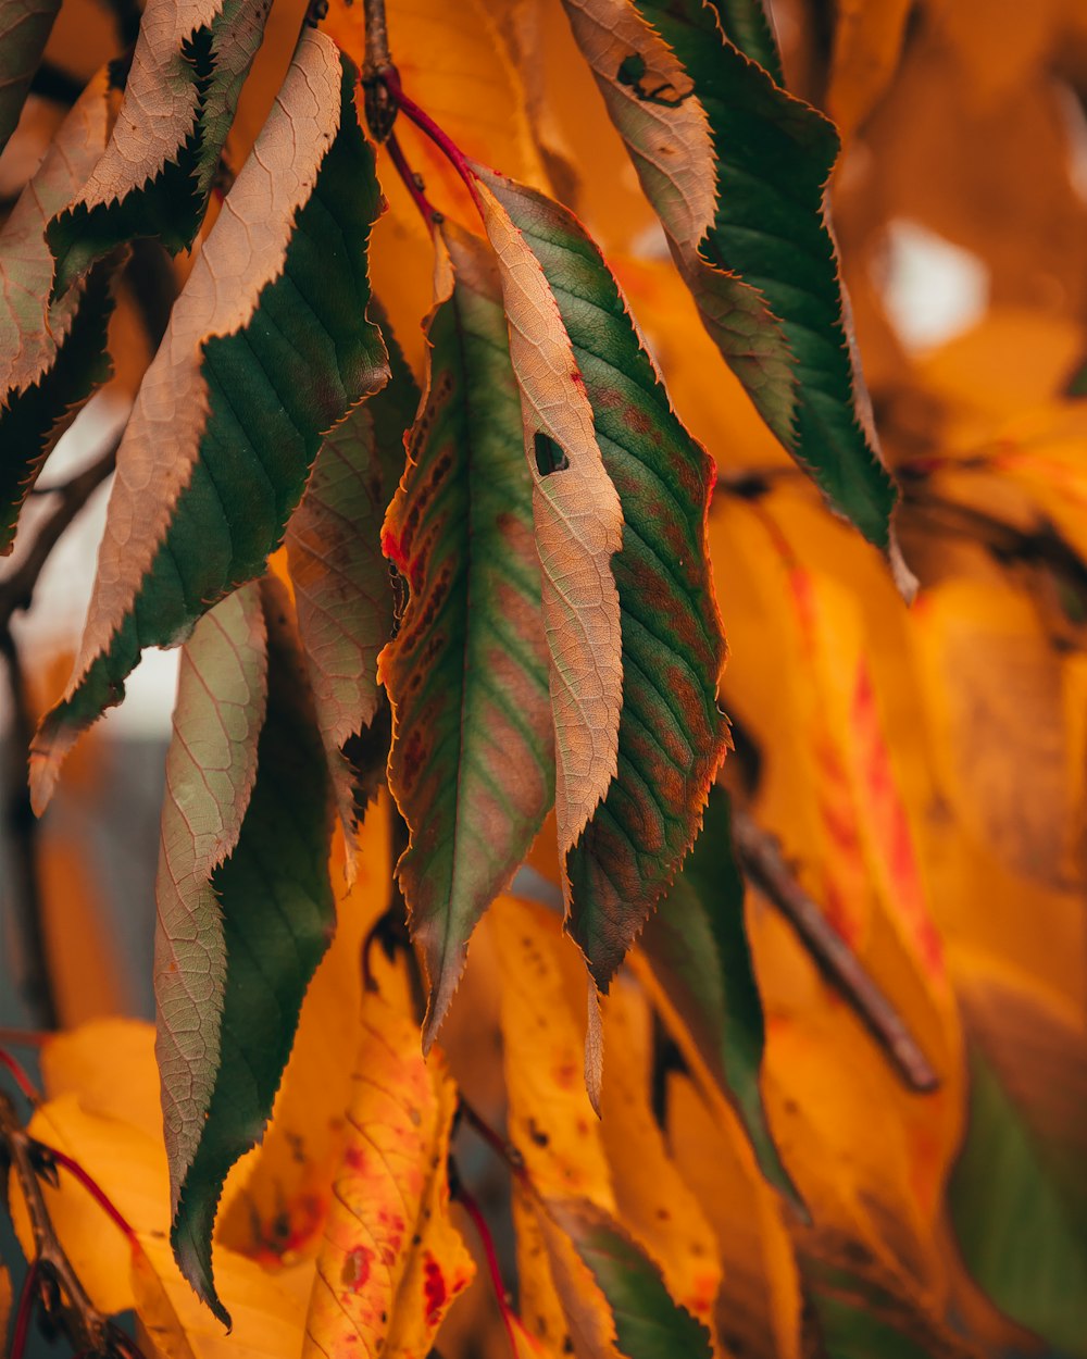
[[[178, 1264], [227, 1324], [211, 1258], [219, 1197], [230, 1167], [264, 1135], [302, 999], [336, 925], [332, 790], [313, 694], [285, 591], [264, 582], [261, 603], [268, 707], [255, 780], [238, 843], [209, 883], [221, 916], [221, 984], [208, 1010], [221, 1007], [221, 1017], [217, 1046], [208, 1045], [192, 1067], [211, 1093], [205, 1108], [188, 1110], [192, 1150], [170, 1165]], [[159, 1023], [170, 1030], [168, 1010]], [[183, 1049], [185, 1036], [173, 1037]]]

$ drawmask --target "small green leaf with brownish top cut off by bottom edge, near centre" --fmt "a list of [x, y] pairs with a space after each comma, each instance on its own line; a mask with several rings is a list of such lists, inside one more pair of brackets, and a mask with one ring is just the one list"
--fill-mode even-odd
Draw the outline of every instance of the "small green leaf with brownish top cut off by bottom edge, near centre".
[[708, 1330], [671, 1298], [658, 1267], [618, 1222], [587, 1200], [548, 1200], [544, 1208], [607, 1299], [625, 1359], [709, 1359]]

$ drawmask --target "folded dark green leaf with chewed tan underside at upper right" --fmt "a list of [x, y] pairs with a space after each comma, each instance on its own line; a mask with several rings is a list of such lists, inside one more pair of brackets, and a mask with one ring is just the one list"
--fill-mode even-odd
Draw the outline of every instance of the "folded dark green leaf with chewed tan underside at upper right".
[[702, 0], [565, 7], [717, 348], [909, 591], [825, 219], [833, 125], [747, 60]]

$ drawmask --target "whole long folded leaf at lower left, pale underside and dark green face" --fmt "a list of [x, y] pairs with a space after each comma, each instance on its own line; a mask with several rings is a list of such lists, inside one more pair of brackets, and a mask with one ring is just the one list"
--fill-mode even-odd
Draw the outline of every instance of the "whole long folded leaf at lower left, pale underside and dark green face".
[[219, 1197], [264, 1135], [336, 923], [329, 771], [288, 609], [266, 580], [197, 625], [163, 805], [155, 991], [171, 1243], [227, 1325], [212, 1277]]

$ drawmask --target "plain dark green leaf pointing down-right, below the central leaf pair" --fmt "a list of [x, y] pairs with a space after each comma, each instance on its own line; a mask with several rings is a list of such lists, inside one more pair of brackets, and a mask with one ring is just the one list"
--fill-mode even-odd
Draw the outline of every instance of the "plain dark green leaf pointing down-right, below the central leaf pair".
[[766, 1124], [760, 1075], [766, 1029], [732, 852], [728, 794], [709, 790], [702, 830], [640, 945], [721, 1093], [735, 1106], [766, 1178], [796, 1189]]

